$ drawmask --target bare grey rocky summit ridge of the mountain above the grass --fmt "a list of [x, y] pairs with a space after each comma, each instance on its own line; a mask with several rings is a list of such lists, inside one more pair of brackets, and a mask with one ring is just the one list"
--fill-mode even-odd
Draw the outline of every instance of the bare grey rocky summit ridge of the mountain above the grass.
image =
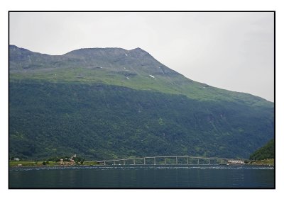
[[145, 50], [137, 47], [81, 48], [65, 55], [43, 55], [10, 45], [10, 70], [48, 68], [101, 68], [105, 71], [148, 75], [180, 75], [158, 62]]

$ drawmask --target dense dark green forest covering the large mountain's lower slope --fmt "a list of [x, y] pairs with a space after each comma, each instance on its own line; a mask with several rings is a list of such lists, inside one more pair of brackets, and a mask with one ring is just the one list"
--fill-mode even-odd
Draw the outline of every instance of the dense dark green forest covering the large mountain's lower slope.
[[146, 155], [249, 157], [271, 111], [105, 84], [10, 82], [9, 147], [24, 159]]

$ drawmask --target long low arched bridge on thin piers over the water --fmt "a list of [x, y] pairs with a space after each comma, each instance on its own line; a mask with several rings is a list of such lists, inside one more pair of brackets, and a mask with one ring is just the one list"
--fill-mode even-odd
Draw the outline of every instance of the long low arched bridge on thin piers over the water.
[[145, 156], [129, 159], [97, 161], [102, 165], [219, 165], [244, 164], [241, 159], [228, 159], [204, 156]]

